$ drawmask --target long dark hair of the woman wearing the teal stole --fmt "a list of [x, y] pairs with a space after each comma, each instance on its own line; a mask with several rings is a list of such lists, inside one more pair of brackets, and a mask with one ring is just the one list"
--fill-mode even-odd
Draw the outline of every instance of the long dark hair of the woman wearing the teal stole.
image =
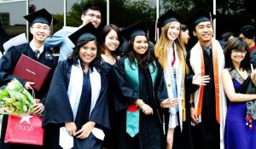
[[[131, 40], [130, 40], [130, 43], [128, 45], [128, 58], [129, 58], [129, 60], [131, 62], [130, 66], [131, 66], [132, 63], [135, 63], [135, 59], [137, 59], [137, 64], [139, 66], [141, 66], [143, 68], [143, 70], [148, 69], [149, 64], [152, 64], [154, 66], [154, 68], [155, 68], [154, 58], [150, 54], [149, 49], [145, 52], [145, 54], [139, 56], [135, 52], [135, 50], [133, 49], [134, 40], [135, 40], [135, 37], [132, 37]], [[147, 41], [148, 41], [148, 38], [147, 38]], [[131, 69], [132, 69], [132, 66], [131, 66]]]

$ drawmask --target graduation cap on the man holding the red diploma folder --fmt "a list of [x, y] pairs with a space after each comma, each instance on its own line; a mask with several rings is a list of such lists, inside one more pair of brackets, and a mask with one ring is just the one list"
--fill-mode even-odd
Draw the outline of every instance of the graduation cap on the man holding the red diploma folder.
[[32, 25], [34, 23], [44, 23], [47, 24], [48, 26], [51, 26], [52, 24], [55, 24], [57, 22], [52, 16], [52, 14], [49, 14], [49, 12], [46, 9], [40, 9], [31, 14], [27, 14], [24, 16], [24, 18]]

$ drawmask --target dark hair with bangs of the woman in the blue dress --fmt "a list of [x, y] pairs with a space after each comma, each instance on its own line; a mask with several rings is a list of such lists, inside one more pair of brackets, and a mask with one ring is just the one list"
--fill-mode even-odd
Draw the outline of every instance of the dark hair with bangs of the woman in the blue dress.
[[235, 69], [235, 66], [232, 63], [231, 60], [231, 53], [232, 50], [236, 49], [238, 51], [245, 50], [247, 51], [247, 54], [245, 55], [244, 59], [241, 60], [240, 68], [243, 68], [245, 70], [249, 69], [249, 51], [247, 47], [247, 43], [244, 42], [239, 37], [233, 37], [230, 39], [230, 41], [227, 43], [225, 48], [225, 68], [230, 68], [231, 70]]

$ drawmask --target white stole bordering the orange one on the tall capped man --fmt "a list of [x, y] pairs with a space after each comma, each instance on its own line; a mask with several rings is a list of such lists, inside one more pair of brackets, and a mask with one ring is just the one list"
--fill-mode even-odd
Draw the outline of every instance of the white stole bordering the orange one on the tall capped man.
[[[226, 103], [226, 97], [224, 95], [224, 88], [223, 83], [221, 79], [221, 72], [224, 69], [224, 51], [217, 40], [212, 38], [212, 44], [215, 43], [215, 49], [218, 53], [218, 85], [219, 85], [219, 114], [220, 114], [220, 148], [224, 148], [224, 124], [226, 119], [226, 110], [227, 110], [227, 103]], [[191, 49], [190, 52], [190, 66], [192, 67], [193, 72], [196, 74], [201, 73], [201, 44], [198, 42], [195, 44], [195, 46]], [[212, 49], [213, 50], [213, 49]], [[212, 78], [213, 79], [213, 78]], [[200, 87], [201, 88], [201, 87]], [[198, 101], [199, 101], [199, 92], [200, 89], [197, 89], [193, 95], [194, 102], [195, 102], [195, 109], [197, 109]], [[216, 118], [216, 117], [212, 117]], [[201, 115], [199, 116], [199, 121], [201, 122]], [[195, 123], [192, 123], [195, 125]]]

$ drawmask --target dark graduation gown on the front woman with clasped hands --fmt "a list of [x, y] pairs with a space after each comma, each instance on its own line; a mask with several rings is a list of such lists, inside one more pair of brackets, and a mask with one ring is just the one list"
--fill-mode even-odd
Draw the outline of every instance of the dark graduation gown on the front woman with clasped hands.
[[[44, 148], [46, 149], [61, 149], [61, 146], [59, 146], [60, 128], [64, 126], [66, 122], [73, 122], [73, 112], [67, 95], [71, 68], [72, 62], [67, 60], [60, 61], [55, 69], [54, 77], [49, 88], [49, 95], [45, 102], [43, 116], [43, 127], [45, 130]], [[85, 77], [86, 76], [84, 76], [84, 80], [86, 80]], [[87, 83], [84, 82], [83, 84], [83, 91], [79, 101], [79, 110], [75, 120], [78, 130], [88, 121], [95, 122], [96, 128], [109, 128], [108, 100], [106, 95], [107, 80], [102, 73], [101, 78], [102, 89], [90, 117], [88, 110], [90, 110], [90, 94], [92, 90], [90, 90], [90, 80], [88, 81], [88, 76]], [[74, 138], [73, 149], [84, 148], [102, 148], [102, 140], [96, 139], [92, 133], [90, 133], [90, 136], [85, 140]]]

